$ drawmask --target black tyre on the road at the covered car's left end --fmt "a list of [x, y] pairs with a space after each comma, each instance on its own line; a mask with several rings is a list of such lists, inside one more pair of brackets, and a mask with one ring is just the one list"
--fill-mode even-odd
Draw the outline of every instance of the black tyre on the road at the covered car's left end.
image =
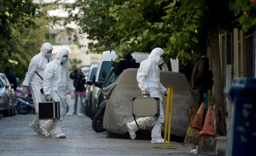
[[93, 127], [93, 130], [97, 133], [102, 133], [106, 131], [106, 129], [103, 128], [104, 113], [105, 113], [105, 110], [100, 109], [93, 117], [92, 127]]

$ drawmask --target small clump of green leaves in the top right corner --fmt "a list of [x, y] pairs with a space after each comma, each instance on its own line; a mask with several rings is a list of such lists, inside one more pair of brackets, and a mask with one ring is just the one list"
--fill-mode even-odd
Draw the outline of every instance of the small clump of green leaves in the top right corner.
[[236, 5], [242, 8], [244, 12], [241, 17], [241, 24], [244, 30], [255, 27], [256, 25], [256, 3], [251, 3], [249, 0], [238, 0]]

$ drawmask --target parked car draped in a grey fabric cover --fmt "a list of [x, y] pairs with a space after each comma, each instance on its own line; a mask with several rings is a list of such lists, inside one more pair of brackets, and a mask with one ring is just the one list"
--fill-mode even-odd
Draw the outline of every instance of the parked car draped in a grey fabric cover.
[[[108, 134], [123, 134], [128, 132], [126, 123], [134, 121], [132, 115], [132, 99], [142, 95], [136, 79], [138, 69], [126, 69], [119, 75], [118, 79], [102, 90], [106, 97], [106, 107], [103, 118], [103, 128]], [[199, 91], [194, 91], [182, 73], [161, 71], [160, 81], [167, 88], [174, 86], [172, 125], [170, 133], [185, 137], [188, 123], [193, 120], [200, 101]], [[166, 96], [163, 96], [163, 112], [166, 109]], [[146, 127], [150, 131], [151, 127]], [[162, 132], [164, 125], [162, 124]]]

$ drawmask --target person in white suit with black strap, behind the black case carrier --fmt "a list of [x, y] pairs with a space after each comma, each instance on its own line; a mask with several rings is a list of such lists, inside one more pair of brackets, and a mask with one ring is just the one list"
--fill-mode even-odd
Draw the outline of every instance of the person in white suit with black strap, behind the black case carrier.
[[28, 86], [30, 86], [36, 113], [36, 117], [32, 123], [29, 124], [29, 127], [39, 135], [44, 135], [44, 131], [39, 127], [39, 125], [44, 124], [44, 122], [38, 120], [38, 102], [46, 101], [46, 97], [45, 94], [40, 91], [40, 89], [42, 89], [42, 79], [38, 75], [44, 77], [45, 66], [53, 61], [53, 59], [52, 44], [42, 44], [40, 53], [30, 60], [28, 72], [23, 81], [22, 93], [25, 96], [28, 93]]

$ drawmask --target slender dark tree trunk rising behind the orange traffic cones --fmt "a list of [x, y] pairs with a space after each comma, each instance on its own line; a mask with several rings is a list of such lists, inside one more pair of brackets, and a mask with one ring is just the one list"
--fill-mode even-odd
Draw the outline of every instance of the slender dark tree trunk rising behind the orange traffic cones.
[[225, 103], [223, 95], [223, 85], [221, 76], [221, 61], [219, 47], [219, 29], [218, 20], [211, 21], [210, 28], [210, 51], [212, 73], [214, 74], [214, 91], [215, 91], [215, 114], [216, 114], [216, 130], [220, 136], [226, 135], [226, 120], [225, 120]]

